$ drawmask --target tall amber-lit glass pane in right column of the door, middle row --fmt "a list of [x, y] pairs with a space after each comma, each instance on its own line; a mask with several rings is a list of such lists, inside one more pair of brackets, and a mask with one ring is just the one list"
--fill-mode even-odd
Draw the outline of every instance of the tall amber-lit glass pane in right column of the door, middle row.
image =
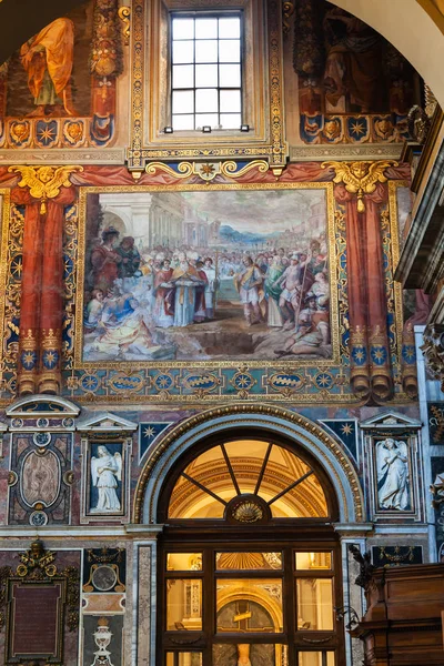
[[333, 629], [332, 578], [299, 578], [297, 628], [311, 630]]

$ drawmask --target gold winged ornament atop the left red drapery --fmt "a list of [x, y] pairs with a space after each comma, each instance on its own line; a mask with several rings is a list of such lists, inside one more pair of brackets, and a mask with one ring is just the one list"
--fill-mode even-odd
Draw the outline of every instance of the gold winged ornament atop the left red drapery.
[[29, 188], [29, 193], [34, 199], [40, 199], [40, 213], [47, 212], [48, 199], [56, 199], [61, 188], [70, 188], [70, 173], [83, 171], [83, 167], [10, 167], [8, 171], [18, 171], [21, 174], [20, 188]]

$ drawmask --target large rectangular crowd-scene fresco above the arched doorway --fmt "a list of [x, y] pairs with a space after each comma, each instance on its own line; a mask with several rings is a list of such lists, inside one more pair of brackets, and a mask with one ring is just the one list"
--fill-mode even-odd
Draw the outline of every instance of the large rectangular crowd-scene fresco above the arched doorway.
[[83, 361], [331, 359], [326, 192], [89, 194]]

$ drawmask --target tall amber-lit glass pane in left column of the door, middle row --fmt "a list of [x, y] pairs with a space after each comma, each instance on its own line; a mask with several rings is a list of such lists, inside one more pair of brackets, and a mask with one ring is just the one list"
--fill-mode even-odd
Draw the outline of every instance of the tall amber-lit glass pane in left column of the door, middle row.
[[202, 629], [202, 581], [170, 578], [167, 581], [167, 630]]

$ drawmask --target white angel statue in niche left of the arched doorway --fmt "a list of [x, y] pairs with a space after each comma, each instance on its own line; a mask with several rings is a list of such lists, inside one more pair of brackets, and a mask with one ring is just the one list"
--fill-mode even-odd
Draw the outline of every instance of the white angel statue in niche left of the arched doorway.
[[120, 501], [115, 488], [117, 480], [122, 481], [122, 456], [119, 452], [111, 455], [107, 446], [99, 446], [98, 454], [99, 457], [91, 458], [91, 477], [92, 484], [99, 491], [99, 500], [91, 511], [93, 513], [118, 512]]

